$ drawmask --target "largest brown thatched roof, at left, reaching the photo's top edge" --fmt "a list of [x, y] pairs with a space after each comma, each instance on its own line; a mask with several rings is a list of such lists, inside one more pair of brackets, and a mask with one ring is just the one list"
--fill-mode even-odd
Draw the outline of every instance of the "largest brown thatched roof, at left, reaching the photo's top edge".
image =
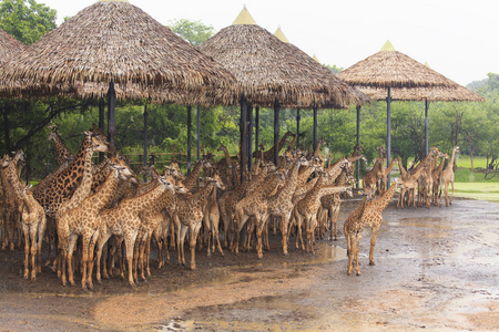
[[[9, 93], [176, 101], [230, 89], [234, 77], [169, 28], [124, 1], [100, 1], [47, 33], [4, 68]], [[22, 86], [21, 86], [22, 82]], [[176, 96], [175, 96], [176, 95]]]

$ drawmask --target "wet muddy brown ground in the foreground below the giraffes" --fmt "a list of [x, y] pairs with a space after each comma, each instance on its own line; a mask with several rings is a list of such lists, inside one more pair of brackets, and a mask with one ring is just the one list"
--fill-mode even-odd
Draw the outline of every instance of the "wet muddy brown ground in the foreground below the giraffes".
[[[339, 229], [357, 205], [344, 201]], [[314, 253], [295, 249], [292, 238], [283, 256], [278, 237], [262, 260], [254, 251], [197, 252], [195, 271], [173, 253], [136, 289], [112, 278], [89, 292], [62, 287], [48, 268], [27, 281], [21, 250], [2, 251], [0, 331], [499, 330], [498, 208], [466, 199], [449, 208], [390, 205], [376, 266], [364, 232], [359, 277], [346, 273], [343, 234], [318, 241]]]

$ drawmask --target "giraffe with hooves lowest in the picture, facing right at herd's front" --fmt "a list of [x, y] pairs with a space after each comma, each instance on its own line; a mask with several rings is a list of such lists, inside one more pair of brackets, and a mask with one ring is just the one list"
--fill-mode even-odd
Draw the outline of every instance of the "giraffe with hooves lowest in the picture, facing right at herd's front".
[[[96, 238], [96, 230], [99, 225], [95, 219], [99, 214], [112, 198], [113, 191], [116, 189], [120, 176], [128, 176], [128, 170], [123, 166], [110, 164], [111, 172], [109, 172], [106, 179], [93, 194], [85, 197], [81, 204], [71, 209], [67, 209], [59, 216], [58, 236], [61, 247], [61, 282], [67, 284], [65, 279], [65, 263], [68, 262], [69, 282], [74, 286], [72, 271], [72, 253], [75, 241], [79, 236], [83, 238], [82, 250], [82, 288], [92, 288], [92, 278], [90, 264], [93, 261], [93, 248]], [[80, 186], [81, 187], [81, 186]], [[88, 269], [89, 267], [89, 269]], [[89, 271], [89, 273], [86, 273]]]

